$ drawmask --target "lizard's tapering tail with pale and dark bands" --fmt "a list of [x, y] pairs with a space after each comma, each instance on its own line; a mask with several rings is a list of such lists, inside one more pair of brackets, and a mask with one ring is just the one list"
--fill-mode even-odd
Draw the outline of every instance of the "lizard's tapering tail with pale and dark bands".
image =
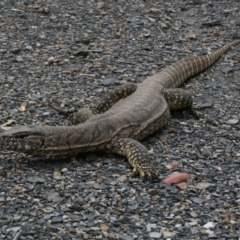
[[228, 43], [222, 48], [203, 56], [184, 58], [163, 69], [158, 75], [158, 81], [165, 88], [176, 88], [185, 80], [210, 67], [229, 48], [240, 44], [240, 39]]

